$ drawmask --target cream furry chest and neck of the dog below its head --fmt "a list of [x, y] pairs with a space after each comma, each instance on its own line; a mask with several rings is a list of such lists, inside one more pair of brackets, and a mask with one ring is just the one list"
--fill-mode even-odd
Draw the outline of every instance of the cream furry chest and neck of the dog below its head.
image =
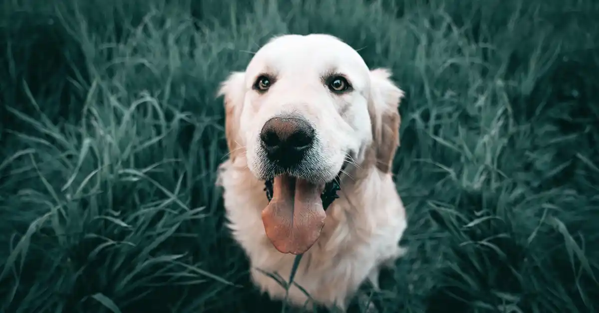
[[[288, 281], [295, 256], [282, 254], [268, 240], [261, 212], [268, 205], [264, 183], [243, 171], [223, 171], [225, 208], [235, 240], [250, 259], [252, 278], [262, 291], [282, 299], [285, 289], [265, 273]], [[389, 186], [387, 186], [389, 185]], [[392, 182], [367, 184], [362, 193], [377, 190], [397, 195]], [[406, 227], [399, 197], [372, 196], [352, 198], [357, 192], [340, 193], [327, 210], [322, 235], [304, 254], [294, 281], [313, 300], [325, 305], [343, 305], [381, 263], [398, 256], [398, 241]], [[299, 288], [291, 288], [291, 302], [302, 305], [308, 297]]]

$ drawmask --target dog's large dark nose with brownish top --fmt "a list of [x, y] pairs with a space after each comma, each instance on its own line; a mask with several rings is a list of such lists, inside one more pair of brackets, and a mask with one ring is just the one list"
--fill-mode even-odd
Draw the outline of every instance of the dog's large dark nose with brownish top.
[[308, 121], [298, 117], [273, 117], [268, 120], [260, 139], [271, 162], [282, 167], [297, 165], [314, 142], [315, 131]]

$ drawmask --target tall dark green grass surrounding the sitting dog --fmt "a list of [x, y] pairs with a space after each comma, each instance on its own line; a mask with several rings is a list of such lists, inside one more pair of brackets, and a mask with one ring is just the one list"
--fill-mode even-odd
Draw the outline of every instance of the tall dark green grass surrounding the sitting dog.
[[311, 32], [407, 93], [384, 312], [599, 310], [596, 1], [279, 2], [3, 1], [0, 312], [277, 307], [223, 227], [215, 94]]

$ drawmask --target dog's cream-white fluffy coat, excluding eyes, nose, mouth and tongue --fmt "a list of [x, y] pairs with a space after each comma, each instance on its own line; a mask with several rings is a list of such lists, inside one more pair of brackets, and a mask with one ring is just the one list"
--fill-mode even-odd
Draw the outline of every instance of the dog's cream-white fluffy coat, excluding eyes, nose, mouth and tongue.
[[[268, 74], [268, 92], [253, 88]], [[343, 75], [352, 90], [331, 93], [323, 79]], [[403, 92], [389, 71], [370, 71], [349, 45], [329, 35], [285, 35], [264, 45], [244, 72], [223, 82], [229, 159], [220, 165], [218, 184], [224, 189], [226, 214], [234, 238], [250, 259], [252, 278], [274, 299], [285, 289], [261, 271], [287, 279], [295, 256], [277, 251], [265, 235], [261, 211], [267, 204], [264, 179], [270, 175], [259, 145], [265, 121], [281, 114], [299, 114], [316, 129], [317, 144], [310, 163], [298, 173], [330, 181], [352, 156], [341, 175], [340, 198], [326, 211], [322, 235], [299, 265], [288, 301], [310, 301], [342, 310], [359, 285], [377, 285], [382, 266], [404, 253], [399, 241], [406, 229], [403, 203], [392, 180], [391, 165], [399, 144], [398, 105]]]

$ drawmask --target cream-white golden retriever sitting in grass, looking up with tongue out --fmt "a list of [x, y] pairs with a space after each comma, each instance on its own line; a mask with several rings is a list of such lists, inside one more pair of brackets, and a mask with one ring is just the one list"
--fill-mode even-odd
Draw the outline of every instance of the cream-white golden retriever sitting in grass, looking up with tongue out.
[[[346, 311], [406, 252], [392, 179], [404, 92], [390, 77], [337, 37], [282, 35], [220, 85], [229, 153], [217, 185], [252, 281], [271, 299]], [[319, 196], [334, 181], [325, 211]], [[298, 254], [286, 290], [268, 273], [288, 278]]]

